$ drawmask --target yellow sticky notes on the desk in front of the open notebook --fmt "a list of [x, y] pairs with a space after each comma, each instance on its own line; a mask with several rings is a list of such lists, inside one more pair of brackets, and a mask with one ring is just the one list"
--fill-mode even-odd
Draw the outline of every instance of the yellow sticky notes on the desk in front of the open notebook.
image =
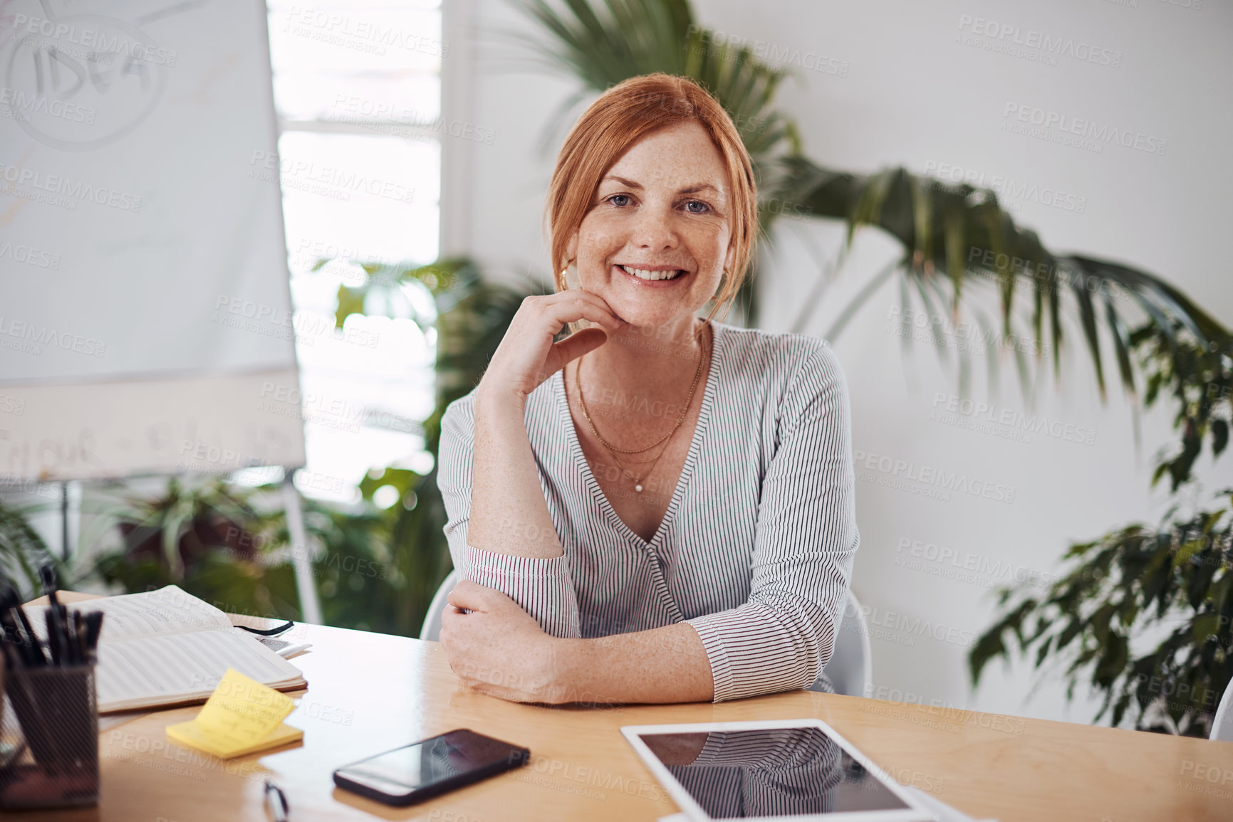
[[[281, 744], [271, 735], [293, 707], [295, 702], [286, 694], [228, 668], [197, 718], [169, 727], [168, 735], [216, 755], [234, 757]], [[270, 744], [265, 744], [266, 741]]]

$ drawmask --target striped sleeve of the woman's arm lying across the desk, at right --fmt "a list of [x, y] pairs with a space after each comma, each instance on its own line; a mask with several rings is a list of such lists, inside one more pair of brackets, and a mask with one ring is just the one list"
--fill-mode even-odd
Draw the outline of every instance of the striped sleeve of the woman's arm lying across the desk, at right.
[[808, 688], [831, 657], [852, 578], [851, 408], [830, 345], [819, 343], [789, 381], [777, 434], [748, 601], [687, 620], [707, 648], [716, 702]]

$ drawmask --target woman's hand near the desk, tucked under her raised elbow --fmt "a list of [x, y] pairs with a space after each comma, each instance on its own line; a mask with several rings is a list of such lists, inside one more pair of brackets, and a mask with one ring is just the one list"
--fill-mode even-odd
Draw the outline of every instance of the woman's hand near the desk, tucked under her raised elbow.
[[446, 600], [441, 646], [450, 668], [471, 690], [512, 702], [568, 701], [556, 638], [518, 603], [467, 579]]

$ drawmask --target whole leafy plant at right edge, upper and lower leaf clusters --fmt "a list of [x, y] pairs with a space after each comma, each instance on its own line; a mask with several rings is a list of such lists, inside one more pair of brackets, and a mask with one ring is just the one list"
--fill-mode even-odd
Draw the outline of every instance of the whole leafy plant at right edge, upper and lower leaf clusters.
[[[1168, 477], [1175, 493], [1196, 483], [1205, 439], [1213, 460], [1228, 446], [1233, 356], [1152, 328], [1136, 332], [1134, 345], [1144, 402], [1168, 393], [1178, 405], [1181, 445], [1158, 456], [1152, 477]], [[1067, 569], [1041, 596], [999, 589], [1000, 617], [968, 658], [973, 684], [994, 659], [1023, 654], [1042, 673], [1064, 667], [1068, 695], [1086, 679], [1102, 695], [1097, 720], [1129, 716], [1141, 730], [1208, 736], [1233, 680], [1233, 490], [1221, 494], [1213, 510], [1179, 515], [1174, 505], [1157, 527], [1129, 525], [1071, 545]], [[1160, 631], [1150, 647], [1134, 647], [1136, 637]]]

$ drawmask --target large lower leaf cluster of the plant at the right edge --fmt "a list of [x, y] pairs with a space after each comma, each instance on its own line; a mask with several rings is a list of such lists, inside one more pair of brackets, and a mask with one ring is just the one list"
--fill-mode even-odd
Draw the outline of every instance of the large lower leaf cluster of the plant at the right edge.
[[[1032, 653], [1038, 669], [1064, 667], [1068, 696], [1090, 673], [1104, 696], [1097, 720], [1129, 715], [1141, 730], [1207, 737], [1233, 679], [1231, 502], [1070, 546], [1068, 571], [1041, 598], [1002, 589], [1001, 619], [972, 649], [973, 680], [995, 658]], [[1136, 653], [1136, 637], [1159, 630]]]

